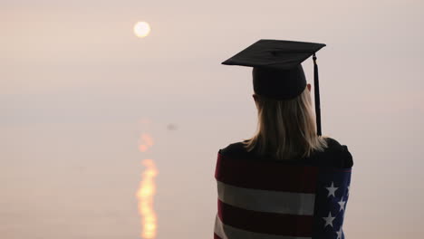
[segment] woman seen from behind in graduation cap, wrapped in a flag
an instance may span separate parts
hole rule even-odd
[[[336,139],[317,134],[311,84],[300,62],[285,69],[258,66],[287,57],[269,49],[311,54],[317,43],[261,41],[226,61],[254,66],[258,124],[251,139],[218,151],[214,238],[344,239],[352,155]]]

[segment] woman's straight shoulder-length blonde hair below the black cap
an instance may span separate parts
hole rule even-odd
[[[311,94],[307,87],[291,100],[272,100],[257,95],[257,129],[244,141],[247,151],[279,160],[309,157],[328,147],[326,136],[316,133]]]

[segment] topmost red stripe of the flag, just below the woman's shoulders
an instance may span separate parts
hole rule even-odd
[[[215,170],[217,180],[226,184],[297,193],[315,193],[317,174],[318,167],[242,160],[219,153]]]

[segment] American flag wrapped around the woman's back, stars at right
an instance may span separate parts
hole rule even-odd
[[[218,153],[214,239],[344,239],[351,174]]]

